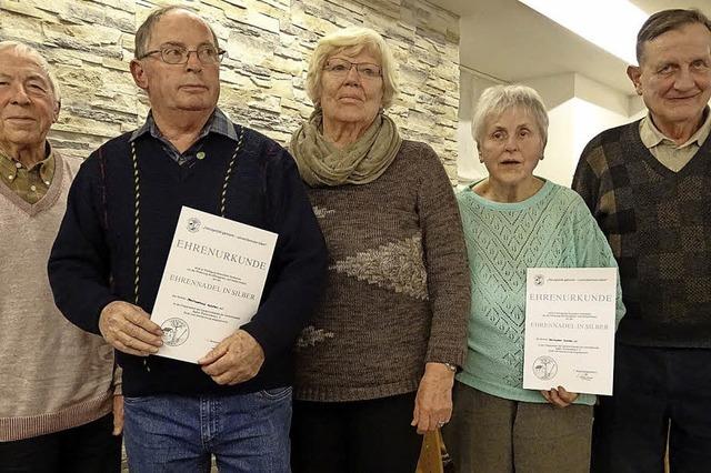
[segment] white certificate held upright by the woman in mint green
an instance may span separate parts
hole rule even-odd
[[[617,268],[529,268],[523,388],[612,394]]]

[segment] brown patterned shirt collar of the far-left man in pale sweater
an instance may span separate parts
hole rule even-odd
[[[0,180],[28,203],[34,204],[44,197],[54,178],[54,153],[49,142],[42,161],[30,169],[0,152]]]

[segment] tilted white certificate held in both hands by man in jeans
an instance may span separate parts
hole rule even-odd
[[[276,233],[183,207],[151,314],[158,354],[197,363],[249,322],[276,244]]]

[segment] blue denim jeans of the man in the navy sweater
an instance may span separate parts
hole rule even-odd
[[[291,388],[230,396],[124,399],[132,473],[289,472]]]

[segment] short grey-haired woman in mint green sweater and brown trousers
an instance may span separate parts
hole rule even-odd
[[[522,388],[525,270],[615,266],[614,258],[582,199],[533,175],[548,140],[533,89],[487,89],[473,134],[489,177],[458,194],[472,292],[447,447],[458,472],[587,472],[594,395]]]

